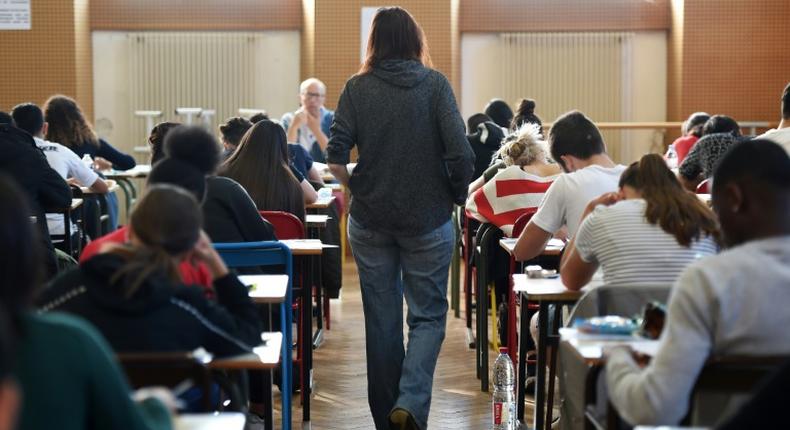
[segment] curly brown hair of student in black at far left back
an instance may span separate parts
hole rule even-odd
[[[49,124],[46,136],[49,141],[69,148],[84,144],[99,145],[99,137],[71,97],[50,97],[44,104],[44,119]]]

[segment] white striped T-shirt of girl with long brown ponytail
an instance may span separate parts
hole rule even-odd
[[[606,285],[672,285],[692,262],[718,252],[711,237],[685,247],[661,226],[645,218],[647,203],[629,199],[599,206],[584,219],[576,250],[587,263],[597,263]]]

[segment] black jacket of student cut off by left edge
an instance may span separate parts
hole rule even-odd
[[[57,271],[55,251],[45,214],[47,209],[64,209],[71,205],[71,189],[58,172],[49,167],[33,137],[8,124],[0,124],[0,172],[13,178],[27,195],[30,215],[36,217],[40,240],[48,251],[47,270],[54,276]]]

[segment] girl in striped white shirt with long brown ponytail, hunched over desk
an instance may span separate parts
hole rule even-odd
[[[600,266],[606,285],[672,285],[689,264],[717,251],[716,218],[658,154],[631,164],[620,191],[591,201],[560,269],[572,290]]]

